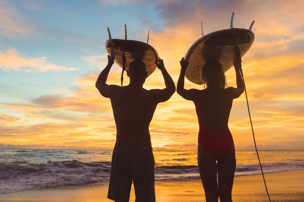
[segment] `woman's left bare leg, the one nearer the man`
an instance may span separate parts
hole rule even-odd
[[[205,190],[206,202],[218,202],[219,189],[216,181],[216,160],[200,143],[197,147],[197,162],[199,165],[199,174]]]

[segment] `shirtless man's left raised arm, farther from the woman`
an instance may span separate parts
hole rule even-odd
[[[108,65],[99,74],[98,79],[95,83],[95,86],[98,89],[99,93],[107,98],[111,96],[111,93],[113,93],[112,88],[115,86],[115,85],[108,85],[105,83],[107,81],[110,69],[113,64],[114,64],[114,60],[111,58],[111,56],[108,55]]]

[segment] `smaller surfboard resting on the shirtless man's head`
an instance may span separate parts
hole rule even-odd
[[[109,56],[114,58],[114,62],[121,68],[123,68],[122,53],[124,50],[126,56],[126,71],[129,69],[130,63],[134,60],[141,60],[146,64],[148,76],[157,68],[155,62],[159,60],[158,53],[147,43],[135,40],[108,39],[105,42],[105,49]]]

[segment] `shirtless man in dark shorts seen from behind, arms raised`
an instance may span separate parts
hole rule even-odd
[[[148,74],[146,65],[140,60],[131,62],[127,71],[130,83],[123,86],[121,115],[121,86],[106,84],[113,63],[114,60],[108,56],[108,65],[98,76],[95,85],[102,96],[110,98],[117,129],[108,198],[117,202],[129,201],[133,181],[136,202],[154,202],[154,156],[149,124],[157,104],[170,99],[175,92],[175,85],[164,67],[163,60],[160,59],[156,65],[162,72],[166,88],[144,89],[143,83]],[[117,156],[121,129],[119,156]],[[116,171],[117,158],[118,172]],[[118,190],[117,186],[119,186]]]

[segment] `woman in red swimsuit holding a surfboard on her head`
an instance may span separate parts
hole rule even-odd
[[[202,66],[204,89],[184,89],[188,62],[184,58],[180,61],[181,73],[177,83],[177,93],[195,104],[199,121],[197,161],[206,202],[218,201],[219,198],[221,202],[232,201],[236,159],[228,119],[233,99],[244,92],[240,74],[240,49],[237,45],[234,48],[236,54],[233,66],[237,77],[237,88],[225,88],[227,84],[223,67],[214,60]]]

